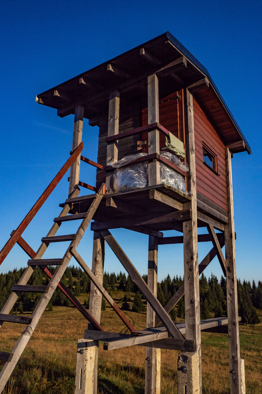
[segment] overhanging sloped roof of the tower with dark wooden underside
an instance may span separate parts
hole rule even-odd
[[[83,105],[84,117],[91,125],[96,125],[106,114],[109,93],[114,89],[120,91],[124,105],[139,99],[146,106],[147,77],[153,73],[159,76],[159,98],[172,93],[170,89],[179,90],[203,79],[205,83],[194,87],[194,97],[208,120],[225,145],[233,144],[233,152],[251,153],[208,71],[169,32],[52,87],[37,95],[36,101],[57,109],[61,117],[74,113],[76,106]]]

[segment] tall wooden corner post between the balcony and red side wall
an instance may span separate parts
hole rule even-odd
[[[189,166],[187,188],[192,200],[184,204],[192,209],[192,219],[183,223],[184,236],[184,273],[185,273],[185,318],[186,339],[196,340],[199,359],[199,392],[201,384],[201,332],[199,304],[199,272],[197,251],[197,200],[196,200],[196,163],[194,140],[194,112],[192,93],[186,89],[186,162]]]

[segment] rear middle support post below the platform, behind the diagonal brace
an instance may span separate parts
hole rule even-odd
[[[157,237],[149,235],[148,242],[148,287],[157,296]],[[155,312],[147,303],[146,328],[155,327]],[[161,349],[146,347],[145,394],[160,394]]]

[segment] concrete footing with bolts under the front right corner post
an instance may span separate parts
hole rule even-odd
[[[199,394],[198,354],[180,353],[177,360],[177,394]]]

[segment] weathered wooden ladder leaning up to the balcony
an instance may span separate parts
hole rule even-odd
[[[20,356],[22,355],[22,352],[24,351],[26,344],[31,338],[31,335],[35,327],[37,326],[37,323],[39,322],[44,310],[47,307],[48,302],[50,301],[50,298],[52,297],[55,289],[57,288],[57,285],[60,279],[62,278],[62,275],[65,272],[66,267],[68,266],[72,258],[72,254],[70,253],[70,250],[72,248],[73,249],[77,248],[79,242],[81,241],[81,238],[85,233],[85,230],[87,229],[92,217],[94,216],[94,213],[96,212],[96,209],[98,208],[100,201],[103,197],[103,190],[104,190],[104,184],[101,185],[100,189],[96,193],[96,198],[93,200],[92,204],[90,205],[89,210],[85,213],[67,216],[71,206],[70,204],[66,204],[64,206],[60,215],[58,217],[55,217],[54,225],[51,227],[47,236],[42,238],[42,243],[37,253],[33,257],[33,259],[28,260],[28,267],[24,271],[22,277],[20,278],[18,283],[11,288],[12,293],[0,312],[0,327],[2,326],[3,322],[22,323],[22,324],[26,324],[26,327],[22,331],[22,334],[20,335],[20,338],[18,339],[15,347],[13,348],[12,353],[0,351],[0,360],[6,361],[6,364],[4,365],[0,373],[0,393],[3,391],[11,373],[13,372],[13,369],[15,368]],[[71,198],[76,197],[78,194],[79,194],[79,190],[77,189],[74,190]],[[78,227],[76,233],[62,235],[62,236],[55,236],[57,230],[59,229],[63,221],[68,221],[70,219],[71,220],[82,219],[81,225]],[[63,258],[42,259],[42,256],[50,243],[63,242],[63,241],[71,241]],[[34,268],[36,266],[47,266],[47,265],[57,266],[57,269],[55,270],[55,273],[52,279],[50,279],[50,282],[48,283],[47,286],[33,286],[26,284],[30,279],[34,271]],[[16,316],[9,314],[21,292],[43,293],[41,299],[39,300],[39,303],[33,310],[33,313],[31,314],[30,317]]]

